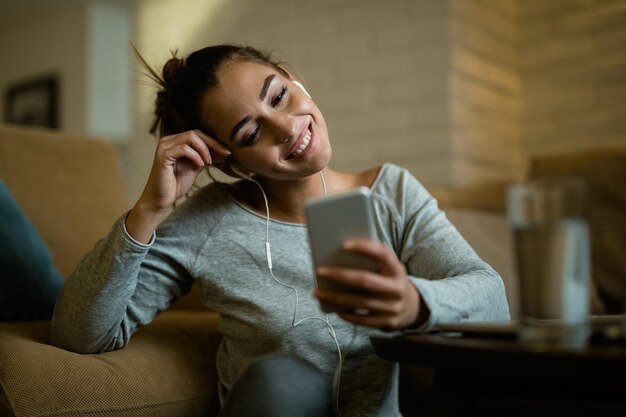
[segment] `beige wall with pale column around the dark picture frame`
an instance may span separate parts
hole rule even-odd
[[[123,145],[130,136],[133,20],[125,0],[57,0],[56,7],[41,1],[31,1],[30,12],[15,6],[24,10],[12,20],[0,16],[0,91],[56,75],[60,128]]]

